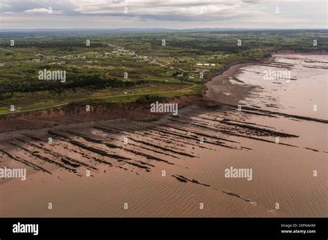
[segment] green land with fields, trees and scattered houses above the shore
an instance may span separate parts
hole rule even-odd
[[[122,103],[144,94],[200,94],[204,80],[232,61],[262,59],[284,49],[328,50],[327,30],[0,36],[1,114],[12,112],[10,106],[18,112],[87,99]],[[65,71],[66,81],[40,80],[44,69]]]

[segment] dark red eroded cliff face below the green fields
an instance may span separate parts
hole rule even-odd
[[[201,95],[191,95],[170,99],[169,102],[178,103],[179,108],[201,101]],[[39,129],[59,126],[68,123],[82,123],[111,119],[152,120],[161,113],[150,112],[149,104],[120,103],[103,105],[90,104],[90,111],[85,106],[64,106],[31,112],[17,112],[0,116],[0,132],[14,130]]]

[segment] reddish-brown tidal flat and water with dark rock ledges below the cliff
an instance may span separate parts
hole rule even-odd
[[[289,58],[295,56],[276,59],[283,65]],[[288,92],[283,84],[275,84],[280,90],[271,92],[270,86],[259,85],[261,81],[251,82],[255,80],[248,73],[255,76],[259,67],[264,66],[236,66],[224,77],[212,79],[207,97],[218,102],[187,106],[178,117],[167,114],[157,121],[92,121],[1,133],[1,166],[27,168],[28,179],[1,180],[0,215],[327,216],[327,117],[322,112],[304,114],[295,104],[290,110],[280,100],[284,96],[274,94]],[[325,66],[309,68],[322,69]],[[276,98],[266,97],[264,108],[261,96],[269,93]],[[226,178],[225,169],[232,166],[253,169],[253,179]],[[318,177],[313,177],[313,170]],[[48,210],[48,203],[53,209]]]

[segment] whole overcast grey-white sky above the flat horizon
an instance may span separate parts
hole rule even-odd
[[[327,0],[0,0],[0,29],[327,28]]]

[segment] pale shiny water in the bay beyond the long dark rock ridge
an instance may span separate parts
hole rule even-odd
[[[327,115],[328,55],[275,54],[271,64],[241,68],[237,79],[259,86],[250,97],[241,101],[262,109],[319,119]],[[264,80],[265,71],[289,71],[291,80]],[[238,83],[238,82],[237,82]],[[317,110],[313,110],[313,105]]]

